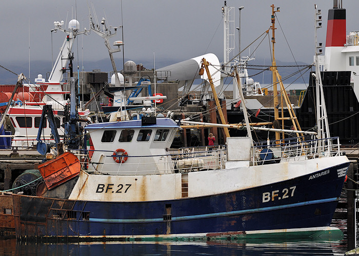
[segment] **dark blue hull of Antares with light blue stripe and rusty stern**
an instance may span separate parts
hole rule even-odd
[[[328,227],[341,195],[343,168],[348,166],[226,194],[167,201],[97,202],[14,195],[16,236],[117,240]]]

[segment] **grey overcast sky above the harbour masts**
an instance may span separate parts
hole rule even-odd
[[[30,62],[50,60],[58,54],[64,33],[51,32],[54,21],[76,18],[83,28],[89,28],[89,4],[87,0],[63,1],[2,1],[0,8],[1,51],[0,65],[7,66],[13,61]],[[318,40],[325,45],[328,9],[332,0],[251,0],[227,1],[227,6],[235,7],[235,27],[239,26],[238,7],[241,11],[241,47],[244,49],[256,37],[270,27],[271,4],[280,7],[276,27],[276,59],[293,61],[296,59],[311,63],[314,54],[314,3],[322,10],[323,28],[318,32]],[[214,53],[223,61],[223,18],[219,0],[123,0],[93,1],[98,19],[107,18],[112,26],[124,26],[125,58],[138,61],[153,59],[186,60],[205,53]],[[347,10],[347,33],[359,30],[358,0],[343,0]],[[123,18],[122,14],[123,13]],[[123,20],[123,22],[122,22]],[[281,25],[281,27],[280,27]],[[286,36],[283,36],[282,30]],[[29,36],[30,34],[30,36]],[[29,39],[30,38],[30,39]],[[122,40],[121,33],[111,38]],[[289,46],[287,45],[287,42]],[[78,36],[79,61],[108,58],[104,40],[98,35]],[[235,52],[238,51],[238,33],[235,31]],[[251,51],[254,50],[251,47]],[[82,48],[82,49],[81,49]],[[243,55],[248,54],[248,52]],[[77,53],[75,52],[75,56]],[[116,53],[122,58],[122,53]],[[258,49],[257,58],[270,57],[268,39]],[[147,67],[153,68],[153,67]],[[161,68],[161,67],[156,67]],[[89,68],[91,70],[91,67]],[[50,67],[49,67],[50,70]],[[26,71],[25,71],[26,72]]]

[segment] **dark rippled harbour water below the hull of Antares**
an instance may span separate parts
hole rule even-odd
[[[348,251],[346,222],[333,220],[344,233],[341,241],[178,241],[178,242],[96,242],[27,243],[0,239],[0,255],[344,255]]]

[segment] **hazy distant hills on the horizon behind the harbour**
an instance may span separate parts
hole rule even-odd
[[[125,59],[125,61],[127,61],[127,60],[129,60],[129,59]],[[153,69],[153,60],[152,59],[151,60],[131,59],[131,60],[133,60],[136,64],[141,63],[147,69]],[[170,59],[170,58],[156,59],[156,62],[155,62],[156,69],[166,67],[166,66],[169,66],[171,64],[174,64],[176,62],[180,62],[183,60],[184,59]],[[116,62],[116,68],[118,70],[122,70],[123,69],[122,59],[120,59],[120,58],[115,59],[115,62]],[[295,66],[296,65],[295,62],[283,62],[280,60],[276,60],[276,63],[277,63],[277,66]],[[7,64],[5,64],[5,63],[0,63],[0,64],[16,74],[24,73],[24,75],[26,77],[29,77],[29,63],[14,61],[14,62],[9,62]],[[79,65],[81,65],[81,64],[82,63],[79,63]],[[103,72],[112,71],[111,61],[109,58],[100,59],[97,61],[83,61],[83,65],[84,65],[84,71],[87,71],[87,72],[90,72],[94,69],[99,69]],[[268,61],[266,60],[264,62],[263,59],[256,58],[255,60],[250,61],[249,66],[248,66],[248,74],[250,77],[252,77],[254,79],[254,81],[258,81],[261,84],[263,84],[264,86],[266,84],[270,84],[271,80],[272,80],[271,71],[261,72],[266,67],[255,67],[254,65],[270,66],[271,62],[269,60]],[[300,65],[300,66],[307,65],[307,63],[298,62],[297,65]],[[74,66],[74,72],[75,71],[77,72],[77,62],[76,61],[74,61],[73,66]],[[302,69],[302,67],[299,67],[299,68]],[[47,76],[51,72],[51,69],[52,69],[51,61],[41,61],[41,60],[32,61],[30,63],[30,80],[34,81],[34,79],[37,77],[38,74],[42,74],[44,78],[47,78]],[[79,70],[82,71],[81,66],[79,67]],[[294,72],[298,71],[298,68],[297,67],[289,67],[289,68],[278,67],[278,70],[279,70],[280,74],[282,75],[282,79],[284,79],[285,77],[290,76]],[[260,73],[260,74],[257,74],[257,73]],[[304,72],[302,72],[302,73],[304,73]],[[257,75],[255,75],[255,74],[257,74]],[[292,76],[292,77],[286,79],[284,81],[284,83],[292,83],[292,82],[307,83],[309,80],[308,76],[309,76],[308,72],[306,74],[304,74],[303,78],[300,78],[300,74],[297,74],[295,76]],[[15,84],[16,80],[17,80],[16,75],[14,75],[13,73],[0,67],[0,84]]]

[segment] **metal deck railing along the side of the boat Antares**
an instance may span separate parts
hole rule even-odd
[[[99,162],[83,157],[83,166],[92,165],[95,170],[88,172],[111,175],[145,175],[189,173],[209,169],[223,169],[227,162],[226,146],[186,147],[171,150],[167,155],[127,156],[135,161],[119,163],[113,161],[112,151],[102,151]],[[252,147],[250,165],[264,165],[289,161],[303,161],[341,155],[338,137],[304,140],[288,138],[285,140],[255,143]],[[111,160],[106,160],[110,158]],[[119,158],[121,159],[121,158]]]

